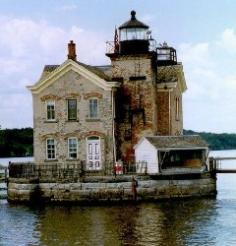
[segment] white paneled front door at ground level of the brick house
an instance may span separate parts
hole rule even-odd
[[[101,148],[98,137],[87,139],[87,169],[100,170],[101,167]]]

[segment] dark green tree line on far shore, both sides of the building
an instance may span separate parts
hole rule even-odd
[[[236,134],[184,130],[184,135],[200,135],[211,150],[236,149]],[[0,157],[33,156],[33,129],[0,130]]]

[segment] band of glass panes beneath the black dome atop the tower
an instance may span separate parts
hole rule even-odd
[[[146,28],[124,28],[120,30],[120,41],[125,40],[146,40]]]

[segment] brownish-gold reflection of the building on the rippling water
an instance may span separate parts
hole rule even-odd
[[[214,200],[103,207],[46,207],[43,245],[215,245]],[[198,235],[201,235],[199,238]]]

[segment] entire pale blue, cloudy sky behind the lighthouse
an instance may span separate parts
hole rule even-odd
[[[33,126],[26,89],[45,64],[61,64],[67,43],[90,65],[109,64],[106,41],[130,11],[183,63],[184,128],[236,133],[235,0],[0,0],[0,126]]]

